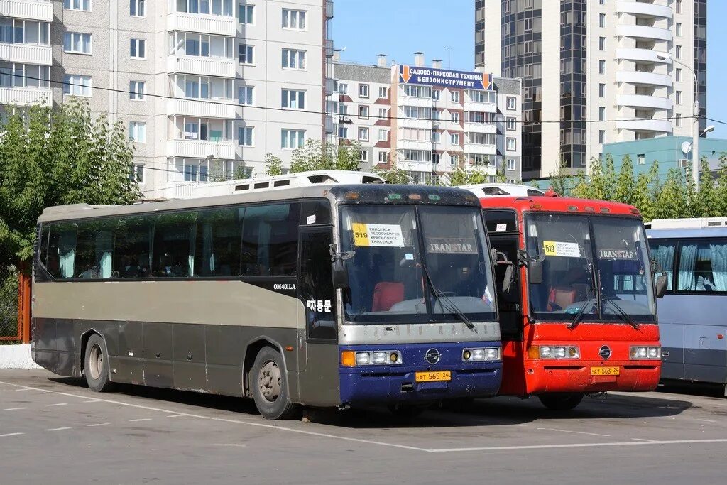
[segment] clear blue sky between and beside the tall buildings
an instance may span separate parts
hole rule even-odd
[[[376,55],[413,63],[414,52],[426,52],[427,63],[442,59],[443,67],[468,70],[475,59],[474,0],[336,0],[333,38],[342,60],[375,63]],[[727,121],[727,1],[707,6],[707,116]],[[446,49],[450,47],[450,49]],[[727,125],[715,124],[710,137],[727,138]]]

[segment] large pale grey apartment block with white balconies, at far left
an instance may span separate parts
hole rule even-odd
[[[0,15],[0,63],[63,81],[11,80],[0,103],[86,97],[128,130],[147,196],[264,175],[266,153],[286,167],[332,131],[331,0],[0,0]],[[37,32],[22,46],[17,23]]]

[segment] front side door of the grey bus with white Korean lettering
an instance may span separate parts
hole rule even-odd
[[[300,229],[298,294],[305,305],[300,398],[316,405],[340,401],[336,292],[331,277],[331,226]]]

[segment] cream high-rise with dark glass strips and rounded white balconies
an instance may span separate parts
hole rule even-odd
[[[475,65],[523,79],[523,177],[705,116],[706,0],[476,0]],[[704,127],[704,120],[700,120]]]

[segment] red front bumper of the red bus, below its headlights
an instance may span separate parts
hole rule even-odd
[[[661,361],[555,363],[526,362],[526,393],[598,393],[608,390],[654,390],[659,384]],[[618,367],[618,375],[592,375],[594,367]]]

